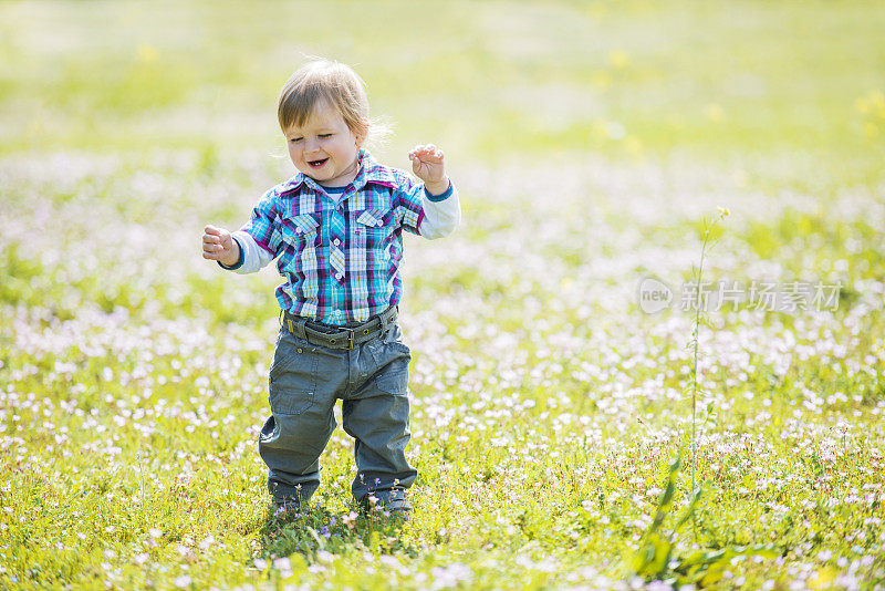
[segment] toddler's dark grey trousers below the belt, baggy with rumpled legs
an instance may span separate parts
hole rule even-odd
[[[337,426],[337,398],[344,431],[355,440],[351,490],[356,501],[369,494],[382,501],[402,498],[415,481],[417,470],[405,456],[412,353],[402,336],[394,322],[377,338],[342,350],[281,328],[270,369],[272,415],[258,442],[277,505],[308,502],[320,486],[320,454]]]

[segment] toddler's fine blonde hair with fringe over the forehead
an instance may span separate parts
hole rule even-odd
[[[368,132],[368,97],[365,82],[350,65],[329,60],[313,60],[292,74],[280,91],[277,118],[285,133],[292,125],[301,127],[316,103],[329,101],[344,118],[354,135]]]

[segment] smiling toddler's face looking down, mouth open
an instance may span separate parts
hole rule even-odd
[[[356,178],[363,137],[354,135],[329,102],[317,102],[304,125],[293,125],[284,135],[292,164],[317,183],[342,187]]]

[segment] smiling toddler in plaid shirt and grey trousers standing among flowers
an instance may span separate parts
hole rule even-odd
[[[207,226],[204,258],[238,273],[277,259],[282,325],[270,367],[271,416],[259,437],[278,507],[309,502],[336,427],[355,439],[352,492],[408,519],[408,346],[396,323],[403,230],[428,239],[460,221],[444,154],[409,153],[424,183],[376,163],[364,84],[348,66],[315,61],[289,79],[278,117],[298,174],[268,190],[242,229]]]

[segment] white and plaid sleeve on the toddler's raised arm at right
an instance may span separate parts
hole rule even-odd
[[[428,240],[450,235],[461,220],[458,190],[451,182],[442,195],[434,196],[427,193],[424,183],[405,178],[395,204],[403,229]]]

